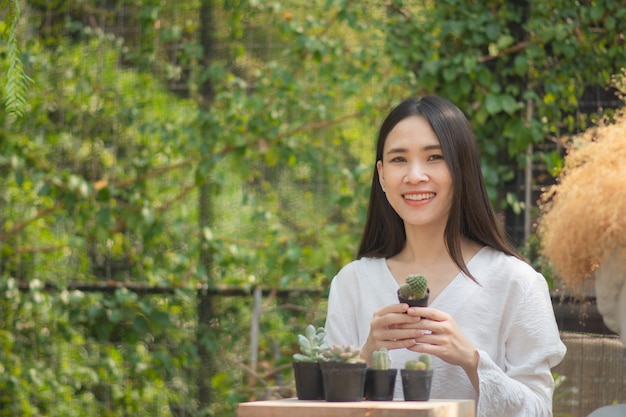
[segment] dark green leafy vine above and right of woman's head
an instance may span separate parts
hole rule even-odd
[[[389,56],[415,93],[449,98],[469,117],[483,155],[489,194],[506,206],[503,185],[526,164],[529,145],[580,131],[584,89],[609,85],[626,65],[618,1],[389,7]],[[619,23],[618,23],[619,22]],[[577,114],[576,116],[573,116]]]

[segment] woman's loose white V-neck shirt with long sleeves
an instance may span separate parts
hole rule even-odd
[[[545,278],[527,263],[483,247],[429,307],[450,314],[478,348],[478,397],[467,374],[432,356],[433,399],[474,399],[479,417],[551,416],[551,368],[565,355]],[[376,310],[397,303],[398,283],[385,259],[362,258],[334,277],[328,299],[326,341],[362,346]],[[393,368],[416,358],[390,351]],[[399,374],[399,373],[398,373]],[[402,384],[396,382],[397,398]]]

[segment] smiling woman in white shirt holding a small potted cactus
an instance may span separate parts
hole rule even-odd
[[[411,273],[428,278],[428,307],[398,302]],[[507,242],[449,101],[411,98],[384,120],[357,260],[332,281],[326,330],[368,362],[382,347],[395,368],[432,355],[431,398],[475,399],[478,416],[552,414],[565,346],[548,287]]]

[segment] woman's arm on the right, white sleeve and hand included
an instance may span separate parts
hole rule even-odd
[[[496,362],[470,342],[453,317],[433,308],[409,309],[422,316],[419,327],[431,334],[410,349],[429,353],[465,370],[478,395],[479,416],[551,416],[551,368],[565,354],[545,280],[541,277],[515,294],[502,316],[494,317],[491,340],[503,359]],[[468,329],[471,332],[471,329]],[[497,332],[500,332],[499,334]]]

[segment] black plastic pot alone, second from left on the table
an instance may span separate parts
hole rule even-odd
[[[362,401],[365,394],[367,364],[322,362],[324,399],[326,401]]]

